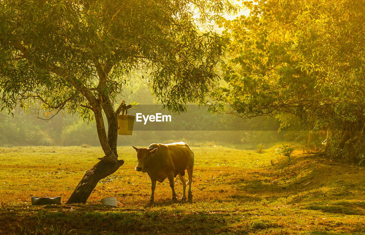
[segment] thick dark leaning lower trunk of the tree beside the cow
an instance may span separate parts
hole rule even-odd
[[[111,175],[123,164],[123,160],[118,160],[115,163],[109,162],[105,159],[99,161],[85,173],[66,204],[86,203],[99,180]]]

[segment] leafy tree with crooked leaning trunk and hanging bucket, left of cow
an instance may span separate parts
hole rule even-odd
[[[131,73],[149,71],[154,94],[170,110],[206,102],[225,51],[219,35],[198,24],[227,11],[235,11],[227,0],[0,2],[1,110],[19,104],[50,111],[47,118],[67,110],[96,122],[105,156],[67,203],[85,203],[124,162],[116,150],[118,101]]]

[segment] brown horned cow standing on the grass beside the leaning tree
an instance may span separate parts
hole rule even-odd
[[[136,170],[147,172],[151,178],[151,202],[154,200],[156,181],[162,183],[166,178],[169,179],[172,189],[172,200],[177,200],[174,190],[174,178],[177,175],[183,183],[181,200],[186,200],[185,189],[188,184],[188,198],[192,200],[191,184],[193,182],[194,152],[187,143],[151,144],[148,148],[132,147],[137,152],[138,164]],[[189,176],[187,183],[185,183],[184,178],[185,170],[187,170]]]

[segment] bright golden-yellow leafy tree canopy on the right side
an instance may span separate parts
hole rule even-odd
[[[242,118],[296,116],[309,130],[327,130],[327,147],[331,137],[334,148],[360,145],[364,1],[244,4],[251,9],[248,17],[222,21],[229,57],[223,64],[228,85],[222,99],[230,112]]]

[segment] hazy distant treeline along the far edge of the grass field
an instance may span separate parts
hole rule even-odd
[[[144,84],[134,84],[133,89],[125,90],[126,103],[138,102],[129,113],[166,113],[156,108],[150,89]],[[133,92],[131,91],[133,90]],[[189,105],[189,112],[173,115],[173,122],[161,125],[150,123],[143,130],[143,123],[135,122],[132,136],[118,136],[118,145],[147,146],[154,142],[168,143],[186,141],[191,145],[245,144],[256,146],[281,141],[294,140],[298,133],[277,132],[280,122],[273,117],[258,117],[242,122],[242,119],[229,114],[211,114],[206,109]],[[94,122],[84,122],[77,116],[57,114],[51,120],[41,120],[38,115],[25,113],[22,109],[13,110],[14,117],[0,112],[0,146],[100,146]],[[44,116],[43,116],[44,117]],[[178,121],[176,121],[178,120]],[[104,120],[107,124],[107,121]],[[107,125],[106,125],[107,126]],[[297,139],[296,139],[297,140]]]

